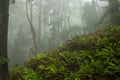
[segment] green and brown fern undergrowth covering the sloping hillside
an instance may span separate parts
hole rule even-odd
[[[75,36],[10,74],[11,80],[120,80],[120,26]]]

